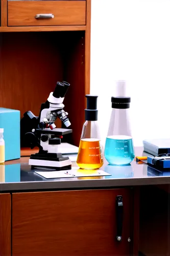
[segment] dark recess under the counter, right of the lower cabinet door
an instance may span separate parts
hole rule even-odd
[[[143,255],[170,255],[169,216],[169,192],[156,186],[141,187],[139,250]]]

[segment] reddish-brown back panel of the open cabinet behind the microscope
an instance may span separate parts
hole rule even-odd
[[[62,32],[59,32],[62,33]],[[1,33],[0,106],[39,115],[56,82],[63,78],[55,32]]]

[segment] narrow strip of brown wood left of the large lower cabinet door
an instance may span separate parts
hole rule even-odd
[[[11,195],[0,194],[0,255],[11,255]]]

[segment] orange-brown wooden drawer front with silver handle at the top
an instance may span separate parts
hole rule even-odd
[[[53,17],[37,17],[53,14]],[[8,1],[8,26],[85,25],[86,1]]]

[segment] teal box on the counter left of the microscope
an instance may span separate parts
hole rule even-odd
[[[20,158],[20,111],[0,108],[0,128],[4,128],[5,161]]]

